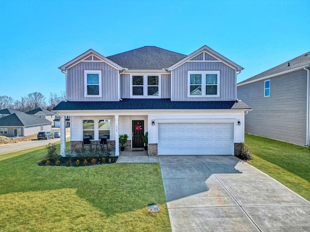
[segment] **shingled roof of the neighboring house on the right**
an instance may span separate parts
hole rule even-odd
[[[291,59],[289,61],[284,62],[283,64],[280,64],[274,68],[268,69],[267,71],[264,71],[263,73],[259,73],[255,76],[252,76],[244,81],[241,81],[238,83],[239,84],[243,84],[243,83],[247,83],[249,81],[254,81],[256,79],[260,79],[263,78],[265,76],[269,76],[269,75],[273,75],[273,74],[277,74],[277,73],[281,73],[284,71],[289,71],[298,67],[303,67],[305,65],[309,65],[310,64],[310,51],[302,54],[299,57],[296,57],[294,59]]]

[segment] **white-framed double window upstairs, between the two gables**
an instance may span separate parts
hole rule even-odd
[[[132,75],[130,95],[134,98],[160,97],[160,75]]]

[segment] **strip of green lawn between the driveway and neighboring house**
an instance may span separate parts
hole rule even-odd
[[[246,134],[249,164],[310,201],[310,148]]]

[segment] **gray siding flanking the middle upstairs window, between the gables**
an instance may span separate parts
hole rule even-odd
[[[141,73],[140,75],[143,75]],[[146,73],[147,74],[147,73]],[[137,74],[139,75],[139,74]],[[157,74],[150,74],[157,75]],[[171,98],[171,75],[161,74],[160,75],[160,98]],[[121,98],[130,98],[130,87],[131,87],[130,74],[121,74]]]

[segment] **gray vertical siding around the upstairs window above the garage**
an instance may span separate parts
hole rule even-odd
[[[219,71],[219,96],[187,97],[187,71]],[[171,101],[236,100],[236,71],[222,62],[186,62],[173,70],[172,85]]]

